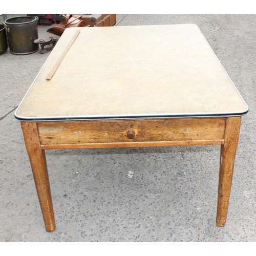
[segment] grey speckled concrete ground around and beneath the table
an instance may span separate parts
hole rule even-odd
[[[0,120],[0,242],[256,241],[256,15],[128,14],[118,26],[184,23],[199,26],[249,106],[226,226],[215,223],[218,145],[53,150],[46,156],[56,230],[46,232],[12,111]],[[52,35],[48,28],[38,26],[39,38]],[[22,100],[49,54],[0,55],[0,116]]]

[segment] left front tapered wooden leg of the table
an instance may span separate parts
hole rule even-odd
[[[21,124],[46,230],[52,232],[55,230],[55,220],[45,151],[41,150],[37,124],[35,122],[21,122]]]

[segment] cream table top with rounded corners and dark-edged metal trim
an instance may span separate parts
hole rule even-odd
[[[46,77],[79,30],[50,80]],[[19,120],[243,115],[248,106],[194,24],[69,28]]]

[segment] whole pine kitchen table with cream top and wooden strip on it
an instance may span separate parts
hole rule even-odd
[[[46,230],[45,150],[221,145],[217,225],[227,217],[248,106],[194,24],[69,28],[18,106]]]

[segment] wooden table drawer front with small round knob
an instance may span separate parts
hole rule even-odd
[[[225,118],[38,122],[41,145],[224,138]]]

